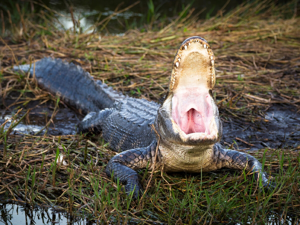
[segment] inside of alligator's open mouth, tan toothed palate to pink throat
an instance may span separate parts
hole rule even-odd
[[[209,94],[215,83],[214,55],[206,46],[208,43],[197,41],[186,43],[174,60],[174,78],[170,82],[173,92],[172,118],[187,135],[216,133]]]

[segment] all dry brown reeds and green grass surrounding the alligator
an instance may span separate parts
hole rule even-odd
[[[159,101],[177,47],[185,38],[197,35],[214,50],[214,92],[222,120],[254,126],[273,103],[300,109],[300,18],[296,13],[294,2],[278,6],[255,1],[205,20],[185,14],[158,31],[149,25],[146,32],[128,30],[122,37],[61,31],[45,12],[32,14],[44,21],[38,23],[20,13],[22,29],[16,27],[9,37],[1,38],[1,98],[19,91],[8,108],[26,107],[34,100],[40,101],[35,107],[53,102],[48,129],[55,112],[63,107],[60,100],[38,88],[29,76],[11,72],[10,67],[53,56],[81,65],[95,79],[119,91]],[[99,26],[105,25],[100,22]],[[28,114],[29,110],[18,112],[24,118]],[[115,152],[101,139],[12,133],[14,124],[22,119],[13,117],[13,122],[7,122],[12,123],[10,129],[0,127],[0,194],[8,199],[55,205],[103,224],[265,224],[271,218],[288,222],[286,217],[292,223],[300,221],[300,145],[251,152],[276,179],[276,190],[260,191],[244,172],[155,171],[147,195],[134,201],[105,175],[104,167]],[[67,165],[56,164],[59,153]],[[149,171],[140,174],[145,188]]]

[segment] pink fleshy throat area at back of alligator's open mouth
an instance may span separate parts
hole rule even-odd
[[[181,88],[172,98],[172,118],[186,133],[210,134],[209,123],[213,117],[210,95],[196,88]]]

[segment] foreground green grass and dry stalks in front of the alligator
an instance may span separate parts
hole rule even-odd
[[[53,138],[50,139],[54,142],[48,137],[26,135],[15,137],[11,143],[8,153],[10,166],[3,176],[12,179],[17,174],[20,178],[18,185],[8,183],[6,188],[23,196],[24,200],[28,199],[29,203],[55,204],[72,214],[89,215],[90,219],[101,223],[110,220],[121,224],[124,221],[144,221],[146,224],[209,224],[212,221],[214,224],[254,224],[267,223],[271,215],[280,218],[281,214],[289,216],[282,220],[287,223],[291,218],[299,219],[300,216],[300,155],[292,149],[284,149],[284,152],[279,149],[272,154],[259,151],[255,155],[264,162],[265,170],[271,171],[274,176],[278,188],[273,191],[260,190],[252,179],[239,171],[223,169],[202,174],[165,174],[158,171],[152,177],[146,196],[134,200],[132,195],[127,196],[122,191],[119,182],[112,182],[104,174],[105,167],[100,161],[108,161],[112,154],[105,146],[92,145],[89,140],[80,140],[77,135],[61,136],[60,140],[59,137]],[[22,152],[12,149],[25,140],[38,146],[39,150],[35,147],[28,153],[24,152],[23,160],[19,162]],[[50,150],[53,147],[58,151]],[[44,149],[49,149],[46,155],[39,153]],[[87,160],[84,161],[86,149]],[[65,154],[66,166],[55,163],[59,153]],[[30,161],[35,161],[34,166],[29,164],[27,167],[24,162]],[[16,172],[19,166],[22,170]],[[144,173],[145,170],[141,171],[142,183],[147,184],[149,174],[145,176]],[[23,182],[21,177],[24,177]],[[55,186],[52,185],[53,180]],[[14,198],[9,192],[6,195]]]

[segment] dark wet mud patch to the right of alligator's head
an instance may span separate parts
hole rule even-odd
[[[250,148],[251,150],[265,147],[273,149],[298,147],[300,145],[300,113],[297,113],[292,106],[275,104],[265,111],[264,118],[256,120],[255,123],[223,122],[221,143],[225,146],[234,143],[232,146],[235,148]]]

